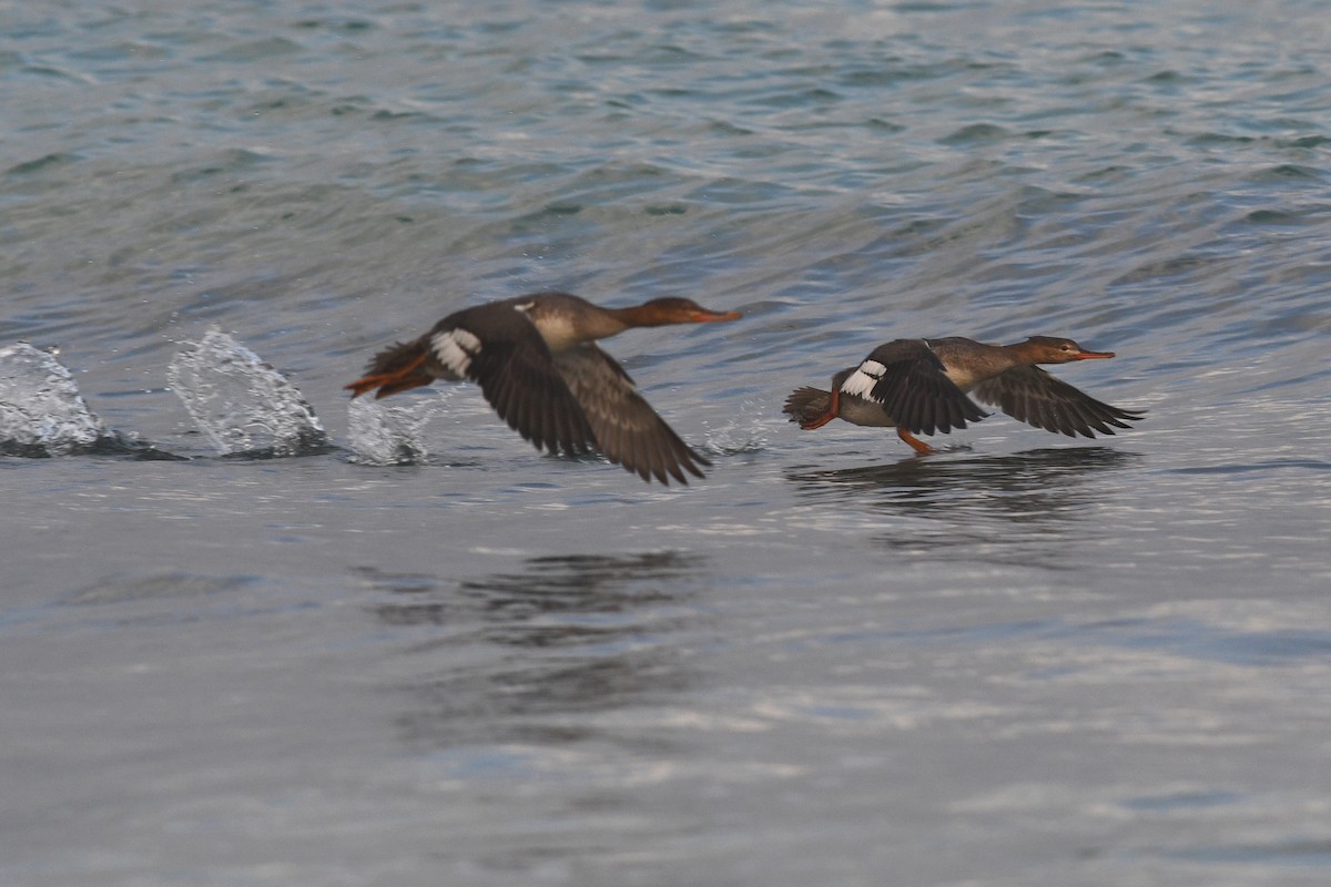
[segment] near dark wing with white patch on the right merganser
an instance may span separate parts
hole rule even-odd
[[[880,344],[841,383],[841,391],[882,404],[897,428],[917,434],[946,434],[985,418],[921,339]]]

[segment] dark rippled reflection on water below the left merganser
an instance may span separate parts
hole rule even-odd
[[[390,597],[370,608],[393,626],[437,626],[410,649],[401,726],[414,745],[568,742],[591,729],[567,715],[659,703],[687,689],[680,644],[701,559],[679,552],[532,557],[461,582],[362,570]]]

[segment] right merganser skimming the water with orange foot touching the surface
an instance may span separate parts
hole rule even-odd
[[[832,391],[792,391],[784,411],[805,431],[833,419],[896,427],[897,436],[920,455],[934,449],[914,434],[946,434],[988,415],[968,392],[1037,428],[1073,438],[1094,438],[1097,431],[1111,435],[1114,428],[1141,422],[1145,414],[1101,403],[1036,366],[1111,356],[1113,351],[1087,351],[1071,339],[1046,335],[1017,344],[961,336],[897,339],[880,344],[860,366],[832,376]]]

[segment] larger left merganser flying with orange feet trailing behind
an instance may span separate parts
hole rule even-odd
[[[596,339],[631,327],[739,317],[689,299],[603,309],[568,293],[536,293],[450,314],[419,339],[374,355],[365,378],[346,387],[353,398],[374,388],[385,398],[435,379],[470,379],[536,449],[578,455],[596,448],[643,480],[669,484],[668,475],[683,484],[684,471],[701,477],[699,465],[712,463],[656,415]]]

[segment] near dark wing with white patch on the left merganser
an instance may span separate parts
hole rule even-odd
[[[508,427],[550,452],[588,452],[596,435],[550,347],[510,302],[450,314],[430,331],[435,360],[480,384]]]

